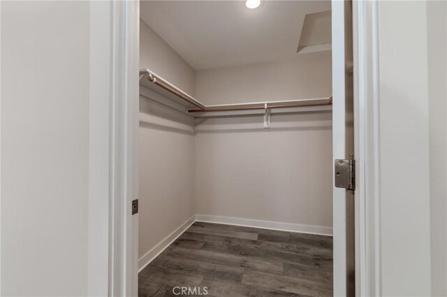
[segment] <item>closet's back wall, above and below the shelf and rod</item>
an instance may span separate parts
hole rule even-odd
[[[323,98],[332,94],[331,52],[199,70],[206,105]],[[196,120],[196,213],[332,228],[330,113]],[[326,229],[328,231],[328,229]],[[329,230],[331,231],[331,230]]]

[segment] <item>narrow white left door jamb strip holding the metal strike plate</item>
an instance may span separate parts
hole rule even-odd
[[[138,113],[140,109],[140,1],[124,2],[124,202],[126,223],[124,255],[126,271],[123,296],[138,296],[138,214],[132,201],[138,199]]]

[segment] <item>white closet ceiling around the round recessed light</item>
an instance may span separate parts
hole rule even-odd
[[[195,70],[296,55],[305,15],[330,1],[141,1],[140,17]]]

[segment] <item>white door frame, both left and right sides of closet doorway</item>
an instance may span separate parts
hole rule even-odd
[[[358,296],[381,294],[378,5],[353,1]],[[136,296],[138,215],[131,215],[131,201],[138,197],[139,1],[114,2],[111,20],[109,295]]]

